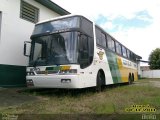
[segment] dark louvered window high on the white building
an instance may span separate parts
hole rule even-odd
[[[39,9],[33,5],[21,1],[20,18],[36,23],[38,22]]]

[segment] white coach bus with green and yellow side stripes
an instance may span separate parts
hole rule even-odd
[[[30,48],[29,48],[30,47]],[[35,25],[29,57],[28,87],[87,88],[138,79],[140,56],[81,15],[66,15]]]

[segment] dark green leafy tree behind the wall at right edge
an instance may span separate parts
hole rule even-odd
[[[160,69],[160,48],[156,48],[149,55],[150,69]]]

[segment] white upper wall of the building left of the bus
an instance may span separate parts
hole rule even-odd
[[[39,20],[60,16],[34,0],[25,0],[39,8]],[[0,64],[26,66],[23,56],[24,41],[29,41],[34,23],[20,18],[20,0],[1,0],[2,23],[0,33]]]

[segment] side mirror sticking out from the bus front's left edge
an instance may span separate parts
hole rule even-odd
[[[31,42],[24,41],[24,50],[23,50],[24,56],[27,56],[27,57],[30,56],[30,48],[31,48]]]

